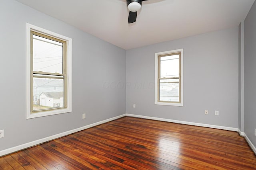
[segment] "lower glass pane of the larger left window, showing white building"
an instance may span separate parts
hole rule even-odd
[[[33,111],[64,107],[64,77],[33,78]]]

